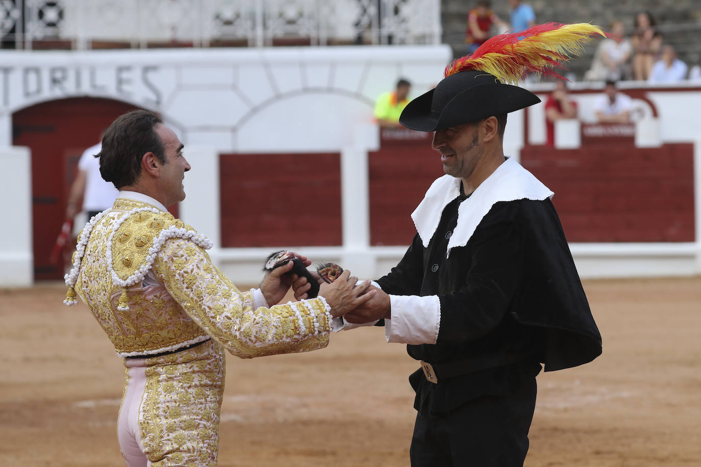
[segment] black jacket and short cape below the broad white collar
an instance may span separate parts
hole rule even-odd
[[[400,263],[377,282],[390,295],[438,295],[436,344],[408,345],[409,355],[429,363],[520,353],[522,361],[438,384],[423,371],[409,377],[414,406],[422,414],[450,412],[484,394],[515,391],[523,379],[592,361],[601,335],[549,199],[497,202],[465,246],[448,239],[461,195],[443,210],[426,248],[418,234]]]

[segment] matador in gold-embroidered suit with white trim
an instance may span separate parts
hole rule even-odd
[[[239,291],[207,255],[212,242],[166,209],[185,196],[183,147],[150,112],[112,123],[96,157],[120,192],[81,232],[66,274],[67,305],[80,296],[124,359],[118,440],[129,467],[214,466],[224,350],[252,358],[321,349],[332,317],[374,295],[344,272],[318,298],[275,305],[291,261]]]

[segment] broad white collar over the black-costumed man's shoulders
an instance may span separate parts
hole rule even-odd
[[[461,179],[451,175],[436,179],[426,191],[423,201],[411,213],[424,248],[438,228],[443,209],[460,195],[460,183]],[[545,200],[553,195],[531,172],[513,158],[508,158],[475,189],[468,200],[461,202],[458,223],[448,241],[446,258],[450,256],[451,248],[468,244],[477,225],[496,202]]]

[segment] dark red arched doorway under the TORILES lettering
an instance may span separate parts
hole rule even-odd
[[[64,258],[49,257],[64,221],[67,197],[81,153],[132,104],[75,97],[36,104],[13,114],[13,145],[32,150],[34,280],[62,279]]]

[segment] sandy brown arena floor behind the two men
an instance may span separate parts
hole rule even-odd
[[[701,466],[701,278],[585,289],[604,355],[538,377],[526,466]],[[63,296],[0,290],[0,466],[123,465],[121,360]],[[308,354],[230,356],[219,466],[408,466],[414,368],[379,328]]]

